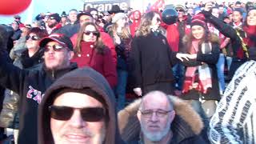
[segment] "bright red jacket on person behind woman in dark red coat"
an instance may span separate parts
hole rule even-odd
[[[117,53],[115,52],[115,46],[114,46],[114,40],[113,38],[110,37],[110,34],[107,34],[103,31],[100,31],[101,37],[102,37],[102,42],[104,43],[104,45],[106,45],[107,47],[110,48],[111,50],[111,55],[112,55],[112,59],[114,62],[114,66],[117,66]],[[74,34],[70,39],[73,43],[73,46],[75,46],[75,43],[77,41],[78,38],[78,34]]]

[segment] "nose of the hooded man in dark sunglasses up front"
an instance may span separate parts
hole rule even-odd
[[[82,115],[79,110],[74,110],[74,113],[72,114],[70,120],[70,125],[75,128],[81,128],[85,126],[85,123],[82,119]]]

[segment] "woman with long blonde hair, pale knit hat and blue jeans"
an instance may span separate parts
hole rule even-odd
[[[130,58],[132,38],[126,14],[115,14],[112,18],[112,23],[113,25],[109,28],[109,34],[114,39],[115,50],[118,55],[118,85],[114,92],[118,97],[118,110],[122,110],[126,103],[127,67]]]

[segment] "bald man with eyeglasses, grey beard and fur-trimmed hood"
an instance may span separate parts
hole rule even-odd
[[[138,119],[133,118],[136,114]],[[206,143],[199,135],[203,128],[200,116],[186,102],[161,91],[151,91],[133,102],[118,118],[127,143]]]

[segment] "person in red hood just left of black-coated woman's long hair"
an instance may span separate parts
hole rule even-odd
[[[130,20],[133,22],[130,25],[130,34],[132,37],[134,37],[135,32],[138,30],[138,26],[141,23],[142,14],[139,10],[135,10],[130,18]]]

